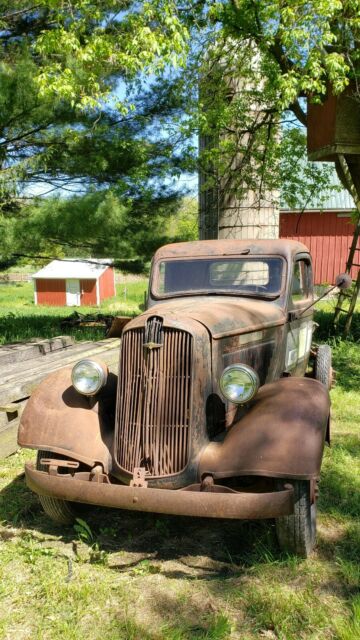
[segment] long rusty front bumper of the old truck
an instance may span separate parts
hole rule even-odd
[[[90,474],[50,474],[28,463],[26,482],[40,495],[95,504],[103,507],[167,513],[202,518],[255,520],[277,518],[294,511],[293,488],[281,491],[239,493],[216,485],[215,491],[200,491],[200,485],[184,489],[151,489],[95,481]]]

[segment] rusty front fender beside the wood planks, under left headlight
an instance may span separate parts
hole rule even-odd
[[[89,466],[111,468],[111,445],[117,376],[109,374],[94,398],[79,394],[71,384],[71,368],[49,375],[32,394],[22,414],[18,442],[74,458]]]

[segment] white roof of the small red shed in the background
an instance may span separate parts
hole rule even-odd
[[[80,260],[76,258],[53,260],[52,262],[49,262],[46,267],[34,273],[32,277],[45,279],[79,278],[96,280],[109,266],[111,266],[111,263],[112,260],[110,259],[97,260],[95,258],[89,258],[89,260]]]

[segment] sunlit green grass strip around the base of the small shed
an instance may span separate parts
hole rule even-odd
[[[144,301],[147,279],[117,285],[117,296],[105,300],[99,307],[50,307],[35,305],[31,282],[0,283],[0,344],[51,338],[66,333],[76,340],[98,340],[105,332],[99,328],[61,329],[61,321],[74,313],[104,313],[111,315],[137,315]]]

